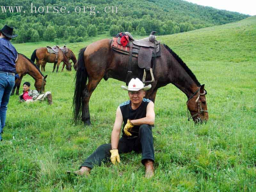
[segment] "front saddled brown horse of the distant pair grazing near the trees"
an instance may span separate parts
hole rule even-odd
[[[39,68],[41,65],[42,71],[45,71],[45,65],[48,62],[48,63],[54,63],[52,72],[54,72],[56,64],[57,64],[57,69],[56,69],[56,73],[57,73],[59,70],[60,63],[62,61],[63,61],[63,68],[66,65],[66,69],[68,71],[71,71],[71,64],[69,63],[69,60],[66,57],[66,55],[60,49],[59,49],[59,53],[58,53],[58,60],[56,61],[55,59],[56,59],[56,54],[48,53],[47,49],[45,47],[40,47],[40,48],[34,50],[34,52],[31,55],[31,60],[33,62],[35,62],[35,60],[36,60],[36,65]]]

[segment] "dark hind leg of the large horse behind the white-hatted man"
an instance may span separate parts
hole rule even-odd
[[[82,97],[82,121],[85,125],[90,125],[90,111],[89,111],[89,100],[92,95],[92,92],[97,87],[97,85],[100,83],[100,80],[89,80],[87,86],[84,89],[83,97]]]

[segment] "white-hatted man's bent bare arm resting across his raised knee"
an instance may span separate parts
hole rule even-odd
[[[140,119],[134,119],[130,122],[134,125],[142,125],[142,124],[148,124],[153,125],[155,123],[155,111],[154,111],[154,103],[151,101],[148,103],[147,106],[147,114],[146,117],[140,118]]]

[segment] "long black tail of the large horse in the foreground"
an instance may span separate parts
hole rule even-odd
[[[75,85],[75,92],[73,97],[73,118],[72,122],[77,123],[77,120],[81,119],[81,106],[82,106],[82,96],[83,91],[85,89],[87,83],[87,70],[84,67],[84,51],[86,47],[81,49],[78,56],[77,61],[77,71],[76,71],[76,85]]]

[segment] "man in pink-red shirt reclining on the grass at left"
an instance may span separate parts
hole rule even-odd
[[[23,83],[23,93],[19,96],[20,102],[34,102],[34,101],[43,101],[45,99],[48,100],[48,104],[52,105],[52,94],[47,91],[44,94],[39,95],[36,90],[30,90],[30,83]]]

